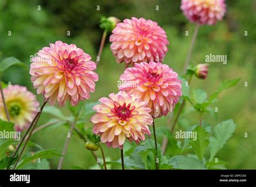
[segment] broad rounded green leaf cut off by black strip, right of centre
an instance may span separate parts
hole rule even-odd
[[[175,169],[206,169],[199,160],[184,155],[173,156],[170,159],[170,164]]]

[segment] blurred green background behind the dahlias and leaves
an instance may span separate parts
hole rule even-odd
[[[256,121],[255,121],[255,40],[256,40],[256,2],[253,0],[226,1],[227,13],[223,21],[214,26],[199,28],[196,44],[191,61],[205,63],[205,55],[210,53],[227,55],[227,64],[211,63],[207,80],[197,78],[192,80],[192,89],[199,88],[211,94],[221,80],[241,77],[241,81],[234,88],[226,90],[212,107],[218,107],[217,117],[206,114],[203,120],[212,126],[220,121],[233,118],[237,128],[227,145],[221,149],[218,157],[227,161],[228,169],[255,169],[256,168]],[[99,5],[100,10],[97,10]],[[159,10],[156,10],[159,6]],[[191,24],[180,8],[180,1],[46,1],[46,0],[1,0],[0,1],[0,60],[4,57],[15,56],[28,67],[30,56],[39,49],[49,46],[56,40],[68,44],[76,44],[96,61],[100,39],[103,31],[99,28],[101,16],[116,16],[123,20],[131,17],[152,19],[163,27],[170,41],[164,63],[174,71],[182,73],[183,64],[190,45],[194,24]],[[38,10],[40,9],[40,10]],[[8,32],[11,31],[11,35]],[[70,36],[67,32],[70,31]],[[188,31],[189,35],[185,35]],[[245,31],[248,35],[245,36]],[[9,32],[10,33],[10,32]],[[100,59],[97,73],[99,81],[95,93],[86,102],[96,102],[100,97],[106,97],[111,92],[117,92],[117,81],[123,73],[124,64],[117,64],[110,51],[109,35]],[[25,85],[35,93],[30,81],[28,70],[12,67],[4,73],[5,83]],[[248,86],[245,87],[245,82]],[[42,103],[42,95],[38,95]],[[188,109],[189,104],[186,105]],[[61,108],[69,115],[67,107]],[[82,124],[90,128],[88,122]],[[49,119],[43,114],[39,125]],[[185,125],[194,125],[198,121],[198,114],[191,112],[181,118],[176,130]],[[156,120],[157,126],[166,126],[167,117]],[[64,146],[66,133],[69,128],[58,126],[51,130],[42,130],[33,135],[32,140],[44,149],[56,148],[60,152]],[[244,137],[248,133],[248,138]],[[160,141],[160,138],[159,138]],[[107,149],[104,146],[107,160],[118,160],[118,149]],[[99,151],[96,154],[100,155]],[[57,168],[58,159],[51,159],[51,168]],[[72,166],[93,168],[95,160],[84,143],[76,136],[71,137],[68,152],[66,153],[63,168]]]

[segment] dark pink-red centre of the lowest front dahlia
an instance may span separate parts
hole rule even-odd
[[[114,102],[114,109],[113,113],[116,114],[117,117],[120,118],[120,120],[127,120],[128,118],[132,117],[132,111],[135,109],[135,107],[131,107],[131,104],[128,104],[126,106],[126,103],[123,105],[119,105],[117,102]]]

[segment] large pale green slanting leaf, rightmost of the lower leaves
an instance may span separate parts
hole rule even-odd
[[[210,161],[219,152],[219,150],[225,145],[228,139],[235,130],[235,124],[233,119],[222,121],[213,128],[214,137],[210,138]]]

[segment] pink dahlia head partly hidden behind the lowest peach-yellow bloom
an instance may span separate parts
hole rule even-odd
[[[182,96],[178,74],[160,62],[136,63],[120,76],[119,90],[147,102],[153,118],[166,116]]]

